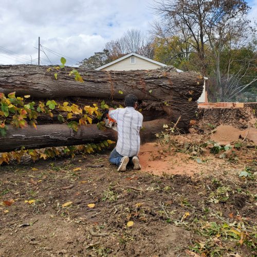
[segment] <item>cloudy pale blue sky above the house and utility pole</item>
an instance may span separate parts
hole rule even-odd
[[[75,65],[132,28],[147,32],[155,19],[154,0],[0,0],[0,64]],[[257,0],[251,0],[256,17]]]

